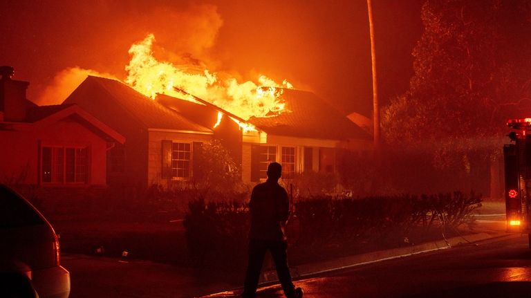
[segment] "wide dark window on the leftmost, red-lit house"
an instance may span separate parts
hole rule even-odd
[[[42,147],[41,181],[43,183],[87,183],[88,149]]]

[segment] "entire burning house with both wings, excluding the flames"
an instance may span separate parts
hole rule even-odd
[[[116,80],[89,76],[64,101],[78,104],[126,138],[109,151],[111,185],[169,185],[194,177],[202,143],[220,140],[241,165],[245,183],[265,179],[281,162],[296,173],[335,173],[343,150],[371,151],[371,136],[313,93],[285,89],[281,113],[243,120],[219,106],[168,95],[153,100]]]

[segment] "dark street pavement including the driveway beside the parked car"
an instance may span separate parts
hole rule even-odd
[[[485,221],[483,227],[488,226]],[[501,221],[492,221],[499,230]],[[494,228],[493,228],[494,230]],[[501,231],[499,231],[501,232]],[[526,234],[456,245],[295,281],[305,297],[530,297],[531,250]],[[234,285],[191,269],[145,261],[67,255],[71,297],[234,297]],[[237,285],[236,285],[237,286]],[[258,297],[283,297],[278,285]]]

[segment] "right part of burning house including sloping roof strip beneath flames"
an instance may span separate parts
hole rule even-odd
[[[333,174],[344,150],[372,151],[372,138],[315,94],[284,89],[282,113],[243,120],[196,97],[194,103],[167,95],[157,101],[201,124],[241,163],[246,183],[265,180],[269,162],[281,162],[283,179],[314,171]],[[217,121],[217,122],[216,122]]]

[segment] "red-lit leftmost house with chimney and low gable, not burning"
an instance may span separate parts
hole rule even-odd
[[[0,68],[0,179],[41,186],[106,185],[106,151],[124,137],[76,105],[37,106],[29,83]]]

